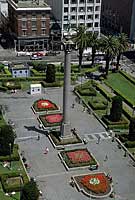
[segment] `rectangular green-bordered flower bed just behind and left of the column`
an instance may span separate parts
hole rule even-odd
[[[45,127],[60,126],[62,123],[63,116],[61,113],[40,115],[39,119]]]

